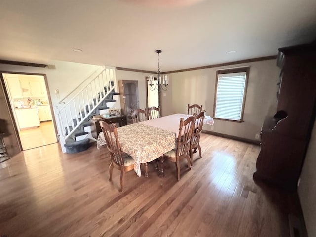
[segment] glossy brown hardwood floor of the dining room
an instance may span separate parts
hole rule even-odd
[[[208,134],[200,144],[179,182],[174,163],[163,179],[149,164],[148,178],[126,173],[123,193],[106,148],[24,151],[0,164],[0,235],[288,237],[290,195],[252,179],[260,147]]]

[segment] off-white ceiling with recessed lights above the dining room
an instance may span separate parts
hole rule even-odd
[[[166,72],[310,42],[316,0],[0,0],[0,25],[2,60]]]

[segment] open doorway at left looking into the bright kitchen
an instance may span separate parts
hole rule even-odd
[[[22,150],[57,142],[44,74],[1,73]]]

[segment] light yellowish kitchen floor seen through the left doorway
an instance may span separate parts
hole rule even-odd
[[[57,142],[52,121],[41,122],[40,127],[20,130],[19,136],[23,150]]]

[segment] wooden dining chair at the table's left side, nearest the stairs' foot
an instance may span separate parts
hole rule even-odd
[[[112,123],[111,126],[104,121],[100,121],[100,127],[103,131],[104,138],[107,143],[106,145],[111,157],[111,163],[109,167],[109,180],[112,180],[112,172],[114,167],[120,170],[120,192],[122,192],[124,188],[125,173],[134,169],[134,159],[120,150],[118,131],[115,123]]]

